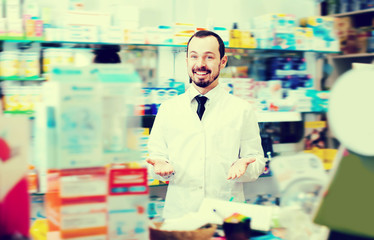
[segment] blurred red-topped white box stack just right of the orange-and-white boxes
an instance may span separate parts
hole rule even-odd
[[[146,240],[148,232],[147,169],[111,169],[108,189],[108,238]]]

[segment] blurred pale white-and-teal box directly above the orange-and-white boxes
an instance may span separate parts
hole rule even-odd
[[[58,168],[102,166],[100,87],[95,83],[44,84],[43,98],[55,122],[49,131],[56,136]]]

